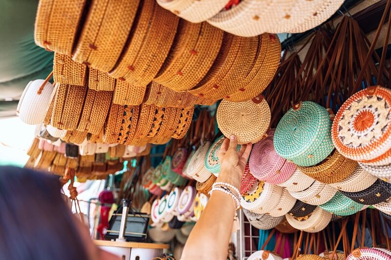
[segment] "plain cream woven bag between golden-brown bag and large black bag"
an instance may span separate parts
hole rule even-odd
[[[347,179],[337,183],[330,183],[330,185],[340,191],[359,192],[369,188],[376,180],[376,177],[365,171],[360,165],[357,165]]]

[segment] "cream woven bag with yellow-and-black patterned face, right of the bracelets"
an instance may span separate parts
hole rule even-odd
[[[240,198],[240,205],[252,212],[265,214],[277,206],[282,188],[263,181],[254,186]]]

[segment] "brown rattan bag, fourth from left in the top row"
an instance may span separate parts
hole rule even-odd
[[[181,92],[202,80],[217,58],[223,32],[212,25],[180,20],[168,59],[154,81]]]

